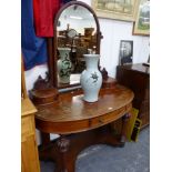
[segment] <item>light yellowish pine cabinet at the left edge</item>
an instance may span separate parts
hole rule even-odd
[[[36,142],[34,113],[31,101],[21,100],[21,170],[22,172],[40,172],[38,148]]]

